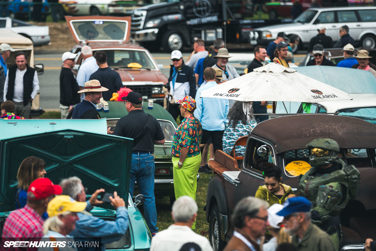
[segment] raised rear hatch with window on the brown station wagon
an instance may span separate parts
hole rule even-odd
[[[77,43],[129,40],[130,17],[65,16],[65,19]]]

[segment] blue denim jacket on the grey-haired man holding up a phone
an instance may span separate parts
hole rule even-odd
[[[92,210],[92,205],[87,201],[86,211]],[[98,217],[77,213],[79,220],[76,221],[76,229],[70,233],[77,241],[88,241],[90,238],[102,238],[102,251],[105,251],[105,243],[119,240],[127,231],[129,224],[128,211],[126,207],[118,207],[116,221],[105,221]],[[78,247],[78,250],[83,250]],[[96,248],[85,248],[98,250]]]

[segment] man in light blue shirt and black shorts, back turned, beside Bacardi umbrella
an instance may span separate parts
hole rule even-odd
[[[227,122],[229,113],[229,100],[219,98],[201,97],[201,91],[217,86],[215,82],[215,70],[206,68],[204,70],[204,79],[206,84],[200,87],[196,93],[196,111],[194,116],[202,125],[201,145],[205,145],[211,136],[214,152],[223,151],[222,138],[224,133],[224,123]],[[201,152],[203,147],[201,148]]]

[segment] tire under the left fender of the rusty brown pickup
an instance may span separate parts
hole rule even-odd
[[[209,217],[209,241],[214,251],[221,251],[226,245],[221,239],[221,222],[217,204],[212,208]]]

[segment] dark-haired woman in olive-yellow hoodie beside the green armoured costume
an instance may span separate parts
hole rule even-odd
[[[291,197],[294,197],[294,192],[290,186],[282,184],[281,170],[270,162],[259,164],[259,169],[262,170],[264,176],[264,186],[259,186],[256,191],[256,198],[267,201],[269,205],[284,204],[284,202]]]

